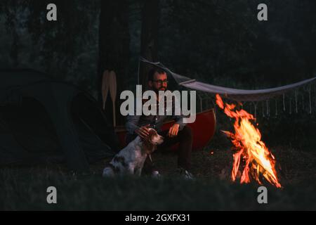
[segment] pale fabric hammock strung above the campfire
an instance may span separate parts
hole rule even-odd
[[[303,86],[304,84],[308,84],[316,79],[316,77],[312,77],[310,79],[305,79],[301,82],[297,82],[294,84],[289,84],[285,86],[278,86],[271,89],[260,89],[260,90],[243,90],[243,89],[231,89],[223,86],[215,86],[212,84],[206,84],[203,82],[198,82],[195,79],[191,79],[190,77],[185,77],[182,75],[178,75],[169,68],[166,68],[162,63],[154,63],[146,60],[145,58],[140,57],[140,60],[144,63],[149,63],[150,65],[155,65],[159,68],[162,68],[166,72],[169,72],[172,77],[176,80],[178,85],[185,86],[190,89],[195,89],[198,91],[205,91],[210,94],[221,94],[224,98],[229,98],[234,101],[264,101],[275,96],[282,95],[291,89],[296,89],[299,86]]]

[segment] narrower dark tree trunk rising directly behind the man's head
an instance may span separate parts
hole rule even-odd
[[[140,56],[147,60],[158,60],[158,27],[159,27],[159,0],[146,0],[142,10],[142,34]],[[143,90],[147,89],[147,73],[150,65],[140,63],[139,84],[143,84]]]

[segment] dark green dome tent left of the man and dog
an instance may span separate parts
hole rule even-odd
[[[117,137],[97,101],[34,70],[0,70],[0,166],[89,162],[113,155]]]

